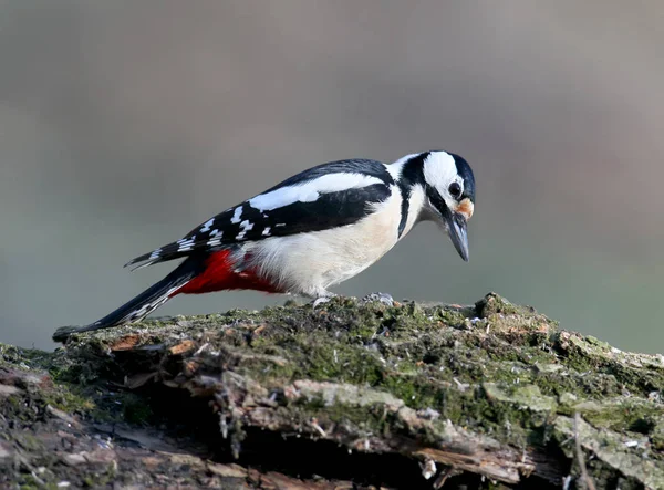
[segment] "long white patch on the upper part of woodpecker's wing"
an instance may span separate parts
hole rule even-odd
[[[339,192],[341,190],[362,188],[374,184],[383,184],[383,181],[377,177],[362,174],[339,173],[323,175],[304,184],[287,186],[272,190],[271,192],[256,196],[249,199],[249,206],[263,212],[282,208],[298,201],[313,202],[321,194]],[[239,222],[239,219],[234,222]]]

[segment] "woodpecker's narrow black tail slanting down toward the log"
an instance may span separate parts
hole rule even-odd
[[[136,298],[127,301],[117,310],[108,313],[103,319],[85,326],[65,326],[58,329],[53,334],[53,340],[55,342],[62,342],[73,333],[91,332],[141,321],[166,303],[180,288],[191,281],[191,279],[198,275],[203,270],[205,270],[205,261],[199,257],[191,256],[164,279],[146,289]]]

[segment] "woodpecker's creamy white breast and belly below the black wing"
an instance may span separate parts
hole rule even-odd
[[[390,198],[374,205],[375,212],[356,223],[247,243],[247,265],[288,292],[325,295],[329,286],[359,274],[394,247],[401,201],[394,187]]]

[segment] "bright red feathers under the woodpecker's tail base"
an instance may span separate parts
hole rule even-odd
[[[268,281],[259,278],[251,270],[236,272],[229,250],[214,252],[206,260],[206,269],[191,281],[172,294],[201,294],[224,290],[255,290],[268,293],[280,292]]]

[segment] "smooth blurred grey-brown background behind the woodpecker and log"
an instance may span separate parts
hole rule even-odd
[[[656,0],[0,1],[0,342],[53,348],[174,265],[127,260],[291,174],[443,148],[476,175],[470,262],[424,223],[335,292],[496,291],[662,352],[663,22]]]

